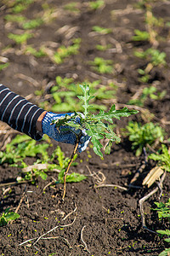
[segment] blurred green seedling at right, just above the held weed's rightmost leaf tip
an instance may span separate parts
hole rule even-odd
[[[137,105],[139,107],[144,106],[144,102],[148,98],[152,100],[161,100],[166,95],[166,90],[162,90],[161,92],[157,91],[155,86],[144,87],[141,96],[138,99],[132,99],[128,102],[130,105]]]

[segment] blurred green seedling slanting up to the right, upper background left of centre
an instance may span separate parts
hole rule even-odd
[[[76,38],[73,40],[73,44],[71,46],[65,47],[65,45],[61,45],[59,49],[54,53],[53,61],[57,64],[61,64],[65,61],[70,55],[77,55],[78,50],[80,49],[81,38]]]

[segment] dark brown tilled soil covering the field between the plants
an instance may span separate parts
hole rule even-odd
[[[62,2],[62,3],[61,3]],[[14,92],[25,96],[29,101],[39,104],[50,98],[49,89],[55,84],[55,78],[72,78],[75,84],[86,80],[93,82],[100,79],[101,84],[113,81],[117,86],[116,97],[112,100],[101,101],[107,108],[116,103],[116,108],[122,108],[133,95],[141,91],[144,84],[139,81],[139,68],[147,66],[147,61],[133,55],[134,49],[148,49],[153,44],[149,41],[133,41],[134,30],[146,30],[144,23],[145,6],[139,8],[137,3],[148,2],[156,18],[163,20],[164,24],[170,22],[170,4],[168,1],[134,1],[134,0],[105,0],[105,5],[100,9],[90,9],[88,1],[75,1],[79,11],[65,9],[68,0],[47,0],[32,2],[21,15],[26,19],[35,19],[49,9],[54,10],[52,20],[48,20],[41,26],[32,29],[34,37],[27,40],[27,44],[39,49],[46,44],[48,50],[56,50],[60,45],[69,46],[73,38],[82,38],[81,48],[77,55],[71,55],[61,64],[56,64],[50,59],[50,54],[37,58],[26,54],[25,44],[15,44],[8,38],[10,32],[22,33],[20,23],[7,22],[6,15],[12,14],[11,6],[6,1],[0,3],[0,61],[7,58],[9,65],[0,72],[0,82],[8,86]],[[142,4],[141,4],[142,5]],[[99,34],[92,31],[93,26],[111,28],[111,33]],[[61,29],[62,28],[62,29]],[[166,90],[166,95],[158,100],[147,98],[144,106],[139,108],[139,113],[122,121],[116,121],[117,132],[127,125],[129,120],[142,122],[150,121],[150,115],[144,115],[143,110],[148,109],[154,114],[152,122],[159,123],[167,132],[166,139],[170,135],[170,27],[157,28],[159,39],[155,47],[166,53],[166,66],[153,67],[150,72],[150,85],[156,85],[158,91]],[[99,51],[96,44],[111,44],[111,49]],[[12,48],[8,47],[12,46]],[[88,61],[94,61],[95,57],[103,57],[112,60],[114,72],[101,74],[94,71]],[[4,61],[4,59],[3,59]],[[41,96],[34,94],[35,90],[42,90]],[[98,102],[99,103],[99,102]],[[42,106],[42,105],[41,105]],[[49,110],[48,106],[43,107]],[[1,131],[4,124],[1,123]],[[8,137],[9,141],[15,134],[13,130]],[[1,136],[1,142],[4,143]],[[7,137],[5,138],[5,141]],[[40,142],[42,143],[42,142]],[[51,154],[59,145],[65,156],[70,157],[73,149],[70,145],[52,142],[53,146],[48,153]],[[3,144],[1,144],[3,147]],[[3,147],[4,150],[4,147]],[[27,158],[27,164],[33,164],[35,159]],[[127,137],[122,136],[122,143],[114,144],[111,154],[105,155],[104,160],[95,155],[93,149],[88,149],[78,154],[77,166],[71,167],[71,172],[79,172],[88,176],[81,183],[67,183],[65,201],[61,201],[63,185],[48,185],[57,178],[56,172],[48,173],[48,178],[37,178],[36,184],[23,183],[10,186],[2,186],[3,183],[14,182],[18,177],[18,168],[9,164],[0,166],[0,207],[1,212],[10,207],[15,211],[17,207],[20,218],[12,224],[0,227],[0,255],[158,255],[168,247],[160,236],[144,230],[139,209],[139,200],[156,188],[156,183],[150,189],[144,188],[142,182],[150,169],[156,164],[149,160],[144,166],[135,187],[127,190],[134,174],[144,163],[144,154],[139,157],[131,149],[131,143]],[[90,176],[96,173],[99,177],[105,175],[105,184],[112,187],[96,188],[96,177]],[[43,193],[44,187],[45,193]],[[121,187],[120,187],[121,186]],[[9,188],[9,189],[8,189]],[[8,190],[6,190],[8,189]],[[10,191],[10,193],[8,193]],[[167,173],[163,182],[163,194],[161,201],[169,198],[170,177]],[[23,193],[25,196],[23,197]],[[159,201],[160,191],[150,196],[144,202],[144,216],[146,226],[150,230],[166,228],[168,224],[160,222],[154,202]],[[22,201],[20,201],[22,200]],[[71,213],[70,215],[67,215]],[[65,218],[66,217],[66,218]],[[57,227],[58,226],[58,227]],[[37,241],[20,245],[20,243],[42,236],[48,230],[56,229]]]

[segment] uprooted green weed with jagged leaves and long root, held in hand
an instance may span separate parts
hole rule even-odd
[[[113,105],[108,112],[100,110],[98,114],[90,113],[91,105],[89,104],[89,101],[94,99],[94,96],[90,95],[90,89],[88,84],[85,84],[84,86],[80,85],[80,88],[82,89],[82,96],[78,96],[78,98],[82,101],[84,116],[82,117],[82,115],[75,112],[75,115],[72,117],[65,115],[63,119],[54,120],[52,122],[53,125],[56,125],[57,129],[60,128],[59,131],[68,131],[68,126],[75,128],[76,130],[71,131],[77,136],[76,147],[71,154],[71,160],[65,171],[63,200],[65,198],[66,176],[70,169],[71,163],[74,160],[74,155],[77,152],[77,146],[80,139],[77,135],[77,130],[86,129],[88,136],[91,137],[94,153],[99,155],[100,157],[103,157],[103,154],[101,152],[101,148],[103,148],[103,145],[100,143],[100,140],[107,139],[107,144],[105,145],[105,154],[110,154],[111,145],[113,142],[120,142],[120,138],[117,137],[116,133],[112,130],[113,119],[120,119],[121,117],[128,117],[133,113],[138,113],[138,111],[136,110],[128,110],[127,108],[116,110],[115,105]],[[79,123],[75,122],[77,116],[80,119]],[[62,128],[60,126],[62,126]]]

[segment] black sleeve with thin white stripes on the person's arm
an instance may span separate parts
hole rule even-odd
[[[42,138],[37,131],[37,119],[44,112],[42,108],[26,101],[3,84],[0,84],[0,120],[7,123],[14,130],[26,133],[35,140]]]

